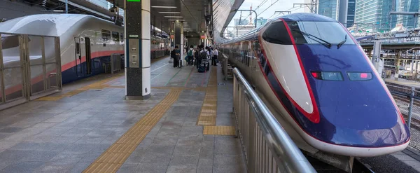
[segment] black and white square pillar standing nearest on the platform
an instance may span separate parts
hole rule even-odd
[[[125,99],[151,97],[151,0],[125,1]]]

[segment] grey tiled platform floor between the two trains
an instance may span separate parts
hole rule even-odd
[[[232,81],[168,60],[153,62],[148,100],[124,99],[122,73],[0,111],[0,172],[246,172],[239,139],[197,125],[235,132]]]

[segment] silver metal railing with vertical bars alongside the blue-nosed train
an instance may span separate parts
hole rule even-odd
[[[241,72],[232,73],[236,128],[248,172],[316,172]]]

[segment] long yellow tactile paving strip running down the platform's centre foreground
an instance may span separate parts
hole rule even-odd
[[[120,139],[112,144],[102,155],[94,160],[83,173],[87,172],[117,172],[144,137],[165,115],[169,108],[176,102],[181,90],[171,90],[158,105],[153,107],[146,116],[141,118],[130,130],[127,130]]]

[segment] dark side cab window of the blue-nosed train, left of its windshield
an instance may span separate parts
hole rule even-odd
[[[290,45],[290,36],[288,35],[286,26],[283,21],[273,22],[268,26],[265,32],[262,34],[262,39],[269,43]]]

